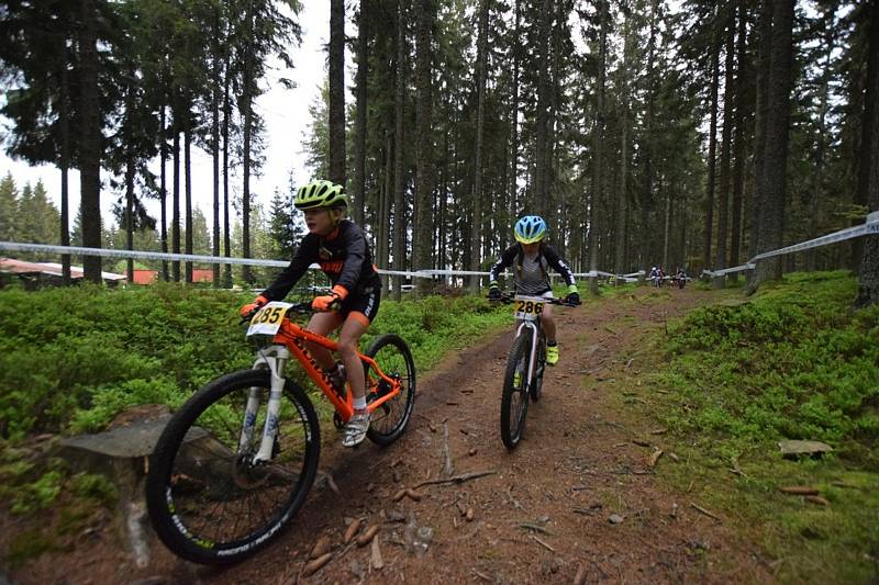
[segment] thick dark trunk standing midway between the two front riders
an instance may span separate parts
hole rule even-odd
[[[419,0],[418,32],[415,38],[415,87],[418,89],[418,109],[415,126],[418,143],[415,146],[415,227],[413,244],[415,269],[429,269],[433,266],[433,87],[431,52],[431,31],[435,21],[433,0]],[[419,279],[416,292],[429,292],[433,281]]]

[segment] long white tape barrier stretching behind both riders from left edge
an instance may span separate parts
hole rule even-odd
[[[35,251],[43,254],[69,254],[71,256],[100,256],[103,258],[133,258],[135,260],[166,260],[166,261],[180,261],[180,262],[201,262],[208,265],[238,265],[238,266],[262,266],[270,268],[286,268],[290,262],[285,260],[259,260],[256,258],[226,258],[224,256],[201,256],[196,254],[166,254],[157,251],[140,251],[140,250],[113,250],[104,248],[84,248],[81,246],[51,246],[47,244],[22,244],[18,241],[0,241],[0,250],[7,251]],[[318,265],[311,265],[312,269],[320,269]],[[474,270],[383,270],[378,269],[379,274],[388,274],[391,277],[405,277],[405,278],[421,278],[430,279],[434,277],[488,277],[488,272],[479,272]],[[638,274],[643,272],[633,272],[632,274],[622,274],[619,278],[626,282],[636,281]],[[503,275],[509,277],[510,273],[505,272]],[[610,272],[590,271],[574,274],[575,277],[589,278],[597,275],[614,277]]]

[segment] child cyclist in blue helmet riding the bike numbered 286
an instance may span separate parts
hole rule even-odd
[[[553,286],[549,284],[547,271],[552,267],[565,277],[565,282],[568,283],[568,294],[565,296],[565,301],[579,305],[580,294],[577,292],[574,273],[558,251],[544,240],[546,222],[543,221],[543,217],[537,215],[522,217],[516,222],[514,233],[516,244],[507,248],[491,267],[488,297],[501,297],[498,274],[515,262],[513,284],[516,294],[552,299]],[[546,363],[555,365],[558,363],[558,342],[556,341],[556,324],[553,320],[552,305],[544,307],[541,314],[541,325],[546,333]]]

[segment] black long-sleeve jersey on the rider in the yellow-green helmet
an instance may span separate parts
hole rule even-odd
[[[363,229],[354,222],[343,220],[330,236],[307,234],[290,265],[263,291],[263,296],[269,301],[282,300],[314,262],[320,265],[334,286],[341,284],[351,295],[381,286]]]

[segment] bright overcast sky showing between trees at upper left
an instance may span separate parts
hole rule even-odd
[[[347,15],[351,18],[351,14]],[[323,1],[302,2],[302,12],[299,14],[299,22],[302,26],[302,45],[291,49],[296,68],[292,71],[275,69],[268,74],[268,79],[263,81],[263,87],[268,87],[268,91],[256,100],[256,109],[266,122],[265,132],[265,165],[260,177],[252,177],[251,191],[256,198],[256,202],[268,206],[276,189],[287,189],[289,172],[292,170],[298,181],[309,179],[309,171],[305,170],[305,156],[302,153],[303,136],[308,132],[311,119],[308,108],[320,95],[320,87],[326,76],[325,63],[326,53],[324,47],[330,37],[330,4]],[[351,34],[352,24],[346,23],[346,32]],[[351,65],[351,55],[346,54],[346,60]],[[277,79],[287,77],[296,81],[297,87],[288,90],[283,89]],[[348,85],[351,83],[351,71],[346,70],[346,98],[351,98]],[[10,123],[8,119],[0,116],[0,124],[3,131],[8,131]],[[60,171],[49,165],[31,167],[26,162],[12,160],[5,156],[5,149],[0,153],[0,175],[5,177],[7,172],[12,172],[15,183],[21,189],[24,183],[36,184],[42,180],[48,191],[49,198],[57,207],[60,207]],[[158,172],[158,161],[155,164],[155,172]],[[170,173],[170,164],[168,165]],[[193,205],[198,206],[208,217],[208,225],[212,222],[212,165],[210,157],[203,151],[192,149],[192,199]],[[110,191],[107,184],[108,176],[101,173],[104,187],[101,191],[101,211],[104,220],[110,218],[110,210],[118,198],[118,193]],[[70,192],[70,222],[79,209],[79,172],[74,170],[69,173]],[[234,196],[238,196],[242,191],[241,178],[235,177],[230,182],[234,189]],[[182,184],[180,185],[182,190]],[[170,189],[169,189],[170,191]],[[231,194],[230,196],[233,196]],[[170,192],[169,192],[170,196]],[[222,194],[221,194],[222,196]],[[182,206],[182,203],[181,203]],[[148,200],[147,209],[158,217],[158,201]],[[182,213],[182,210],[181,210]],[[170,216],[170,212],[168,213]]]

